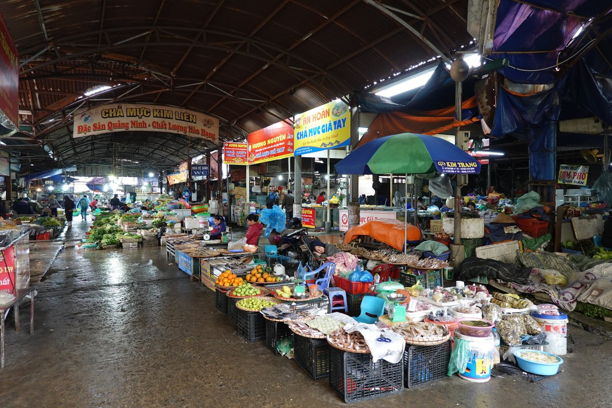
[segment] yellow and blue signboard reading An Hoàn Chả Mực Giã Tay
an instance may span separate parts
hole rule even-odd
[[[348,146],[351,109],[338,99],[297,115],[294,127],[296,156]]]

